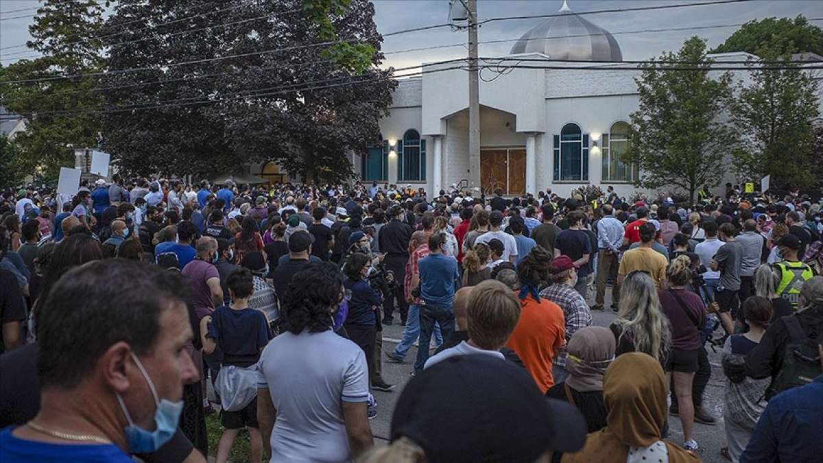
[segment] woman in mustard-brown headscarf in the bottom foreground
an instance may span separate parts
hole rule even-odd
[[[645,353],[625,353],[603,376],[603,399],[609,410],[606,428],[588,434],[577,453],[563,463],[692,463],[689,451],[663,440],[666,422],[666,376],[660,362]]]

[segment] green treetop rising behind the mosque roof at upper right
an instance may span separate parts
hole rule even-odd
[[[781,44],[779,54],[823,54],[823,29],[809,24],[802,15],[798,15],[794,20],[767,17],[760,21],[746,22],[710,53],[745,51],[761,56],[761,50],[774,50],[775,44]]]

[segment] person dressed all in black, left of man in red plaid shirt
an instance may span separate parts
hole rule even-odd
[[[394,204],[388,208],[389,222],[380,229],[378,241],[380,250],[385,254],[383,263],[387,270],[394,273],[395,281],[402,283],[406,278],[406,263],[409,260],[409,240],[412,239],[412,227],[404,220],[405,210],[400,204]],[[398,284],[393,294],[388,294],[384,298],[383,312],[384,325],[391,325],[393,321],[394,301],[398,302],[400,319],[402,324],[406,324],[406,314],[408,305],[406,297],[403,295],[403,285]]]

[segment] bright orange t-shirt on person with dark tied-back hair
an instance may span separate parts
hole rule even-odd
[[[557,352],[565,345],[563,309],[543,297],[537,302],[532,295],[521,300],[520,305],[523,307],[520,320],[506,347],[523,360],[526,370],[545,394],[555,385],[551,366]]]

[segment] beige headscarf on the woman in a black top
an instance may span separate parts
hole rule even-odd
[[[572,334],[566,351],[566,384],[578,392],[603,390],[603,374],[615,359],[615,335],[602,326],[587,326]]]

